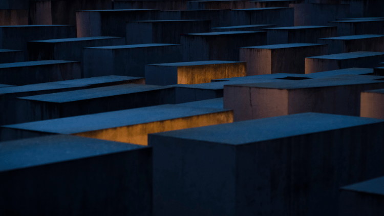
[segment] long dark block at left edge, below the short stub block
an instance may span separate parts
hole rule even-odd
[[[0,80],[4,84],[27,85],[81,77],[79,61],[24,61],[0,64]]]

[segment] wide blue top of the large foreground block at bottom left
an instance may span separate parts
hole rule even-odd
[[[67,135],[0,142],[0,172],[140,148],[146,146]]]

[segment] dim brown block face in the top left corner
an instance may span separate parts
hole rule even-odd
[[[0,9],[0,26],[23,25],[28,25],[28,10]]]

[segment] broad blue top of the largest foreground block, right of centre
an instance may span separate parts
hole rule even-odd
[[[156,135],[239,145],[379,122],[384,123],[384,120],[322,113],[301,113],[181,129],[157,133]]]

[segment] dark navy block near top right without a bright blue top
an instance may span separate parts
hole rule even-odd
[[[328,26],[328,21],[348,18],[350,6],[336,4],[290,4],[294,8],[294,26]]]

